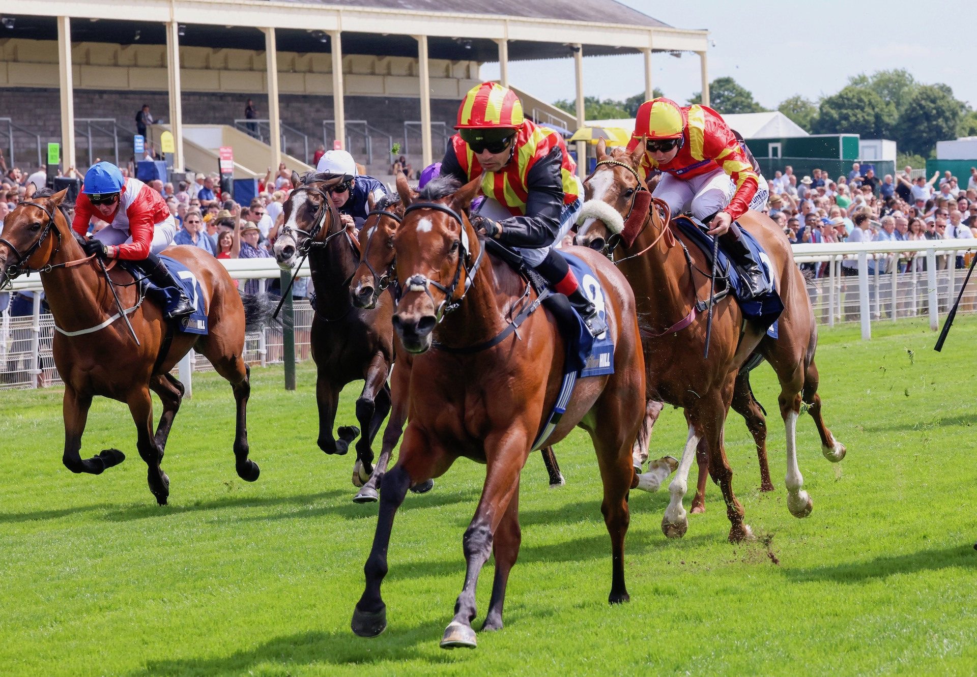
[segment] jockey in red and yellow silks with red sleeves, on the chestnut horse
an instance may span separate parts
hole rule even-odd
[[[766,204],[767,183],[733,130],[712,108],[678,106],[659,97],[638,108],[628,150],[642,140],[639,172],[662,173],[655,196],[668,203],[672,214],[688,210],[708,224],[708,233],[720,237],[743,273],[750,295],[759,293],[763,274],[734,222],[747,209]]]

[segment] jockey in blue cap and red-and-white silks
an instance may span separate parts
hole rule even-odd
[[[84,237],[93,216],[108,226],[85,241],[86,254],[128,261],[157,287],[178,290],[180,301],[167,314],[169,319],[193,312],[183,286],[156,256],[170,246],[177,230],[162,195],[138,179],[123,178],[110,162],[97,162],[85,173],[71,228]]]

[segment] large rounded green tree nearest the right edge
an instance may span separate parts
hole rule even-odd
[[[899,116],[899,148],[925,155],[936,142],[956,139],[965,108],[947,89],[946,85],[922,85],[916,89]]]

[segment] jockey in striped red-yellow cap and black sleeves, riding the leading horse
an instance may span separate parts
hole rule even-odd
[[[576,222],[583,194],[563,138],[527,120],[519,98],[492,82],[468,92],[457,122],[441,174],[462,183],[483,177],[486,200],[472,225],[515,248],[567,296],[592,335],[603,333],[607,324],[553,246]]]

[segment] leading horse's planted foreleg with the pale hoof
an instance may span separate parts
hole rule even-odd
[[[465,552],[465,583],[454,604],[454,618],[447,624],[441,640],[443,649],[476,646],[472,620],[478,614],[475,591],[479,573],[492,550],[495,529],[505,516],[512,497],[519,487],[519,474],[526,463],[529,436],[522,431],[507,431],[486,441],[486,481],[482,488],[475,516],[462,540]],[[501,604],[501,601],[499,601]]]

